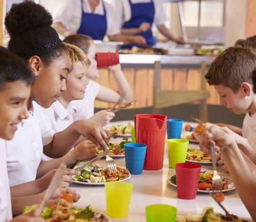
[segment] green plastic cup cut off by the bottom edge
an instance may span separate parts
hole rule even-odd
[[[177,208],[165,204],[153,204],[146,206],[147,222],[175,222]]]

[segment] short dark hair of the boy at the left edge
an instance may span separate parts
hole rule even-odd
[[[32,71],[24,59],[0,46],[0,91],[5,88],[6,83],[18,80],[32,84]]]

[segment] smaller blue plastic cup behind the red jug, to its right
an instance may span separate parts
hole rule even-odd
[[[180,139],[183,119],[167,119],[167,138]]]

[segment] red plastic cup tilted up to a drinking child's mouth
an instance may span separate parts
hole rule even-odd
[[[119,64],[119,53],[96,53],[98,68]]]

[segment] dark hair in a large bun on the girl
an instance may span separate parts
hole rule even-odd
[[[5,27],[10,36],[9,50],[24,59],[39,56],[50,64],[66,51],[51,27],[52,22],[52,15],[39,4],[29,0],[13,4],[5,17]]]

